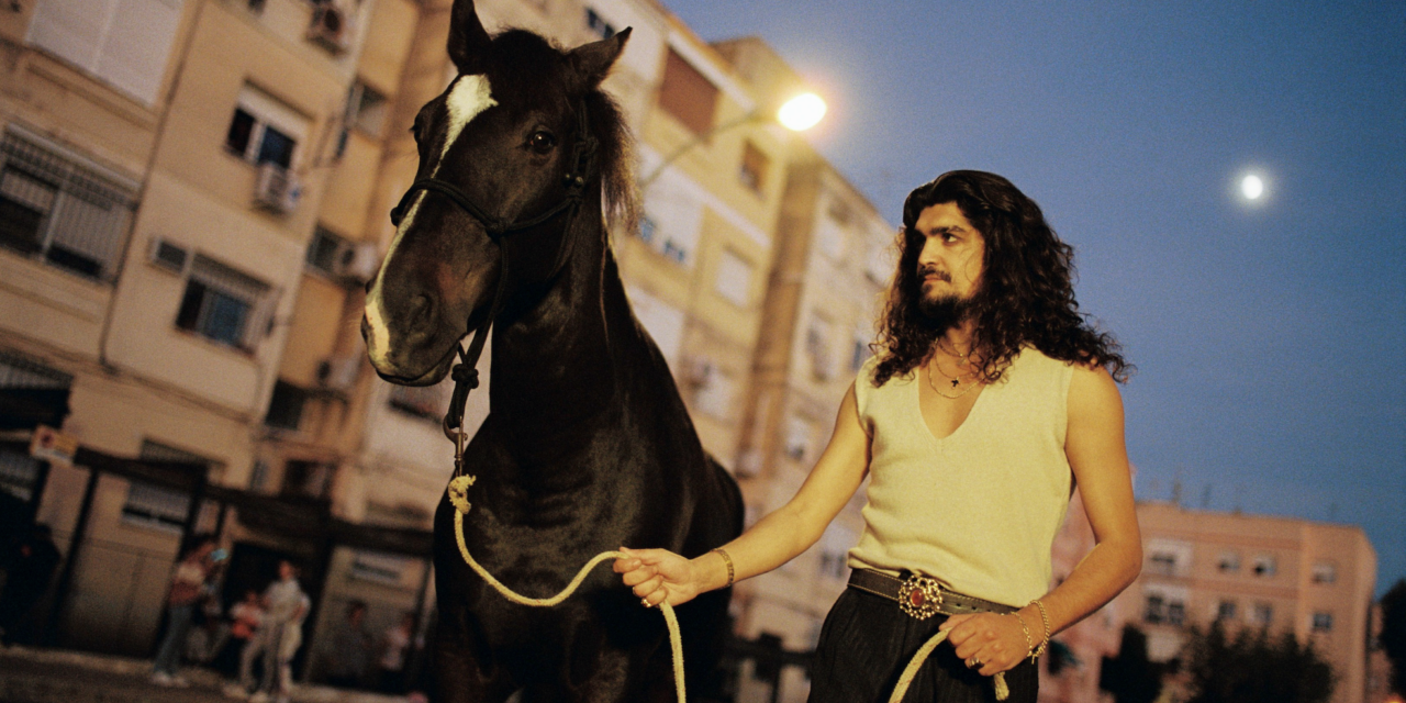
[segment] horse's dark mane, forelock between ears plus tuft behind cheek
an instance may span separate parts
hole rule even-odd
[[[523,80],[519,90],[538,87],[529,77],[553,75],[553,65],[565,51],[553,41],[529,30],[509,28],[494,37],[496,67],[515,80]],[[537,93],[537,100],[554,101],[561,94]],[[595,132],[596,173],[600,176],[603,212],[609,224],[634,232],[640,224],[640,191],[634,183],[634,138],[624,121],[620,105],[600,87],[585,94],[585,105]],[[572,112],[576,105],[565,105]]]

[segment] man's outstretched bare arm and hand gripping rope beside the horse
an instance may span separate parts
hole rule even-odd
[[[839,405],[830,444],[796,496],[723,547],[733,558],[735,581],[780,567],[815,544],[868,471],[869,436],[859,422],[851,385]],[[627,551],[633,558],[616,560],[614,571],[651,605],[665,598],[669,605],[685,603],[727,585],[727,562],[714,553],[685,560],[666,550]]]

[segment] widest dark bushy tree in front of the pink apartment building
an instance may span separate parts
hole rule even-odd
[[[1333,666],[1294,633],[1243,628],[1232,638],[1215,623],[1192,630],[1187,652],[1188,703],[1326,703],[1333,695]]]

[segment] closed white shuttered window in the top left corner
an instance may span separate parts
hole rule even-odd
[[[183,0],[38,0],[28,44],[141,100],[156,103]]]

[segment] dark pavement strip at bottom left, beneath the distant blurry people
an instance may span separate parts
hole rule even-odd
[[[181,669],[190,688],[150,682],[152,662],[65,650],[0,650],[0,703],[239,703],[225,697],[225,681],[201,668]],[[295,703],[405,703],[330,686],[294,685]]]

